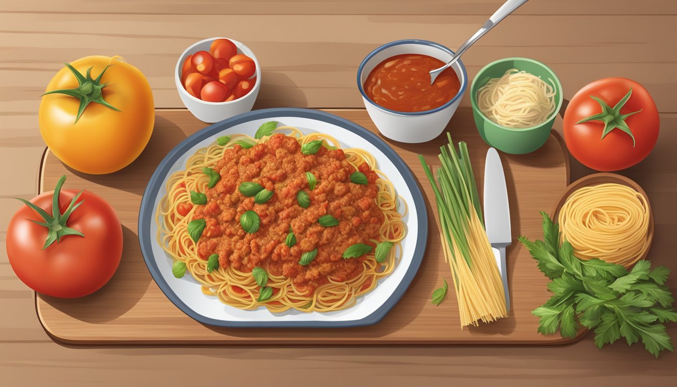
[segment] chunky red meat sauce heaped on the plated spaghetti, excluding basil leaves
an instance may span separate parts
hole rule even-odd
[[[378,176],[368,165],[359,166],[368,184],[353,184],[349,176],[356,169],[343,150],[323,146],[315,155],[303,155],[295,138],[276,134],[265,144],[225,150],[213,169],[221,174],[221,180],[204,192],[207,203],[198,206],[193,217],[206,220],[198,240],[200,258],[206,260],[218,253],[221,266],[242,272],[263,266],[269,274],[306,286],[309,293],[327,283],[328,277],[346,281],[364,270],[364,256],[343,259],[341,254],[355,243],[374,247],[370,239],[378,239],[384,221],[376,204]],[[318,180],[314,190],[308,186],[307,171]],[[274,196],[265,204],[254,203],[253,197],[238,190],[242,182],[259,183]],[[299,190],[309,194],[309,207],[297,203]],[[240,225],[240,216],[248,210],[255,211],[261,220],[253,234]],[[320,225],[318,218],[326,214],[339,220],[339,225]],[[297,239],[291,248],[284,243],[290,227]],[[315,248],[315,260],[307,266],[299,264],[301,254]]]

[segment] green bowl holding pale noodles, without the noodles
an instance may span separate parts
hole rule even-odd
[[[554,82],[555,91],[555,109],[554,113],[548,117],[548,120],[532,127],[505,127],[498,125],[494,121],[488,119],[483,115],[477,107],[477,90],[485,85],[489,79],[500,78],[510,68],[517,68],[517,70],[524,70],[527,73],[541,77],[546,82],[552,79]],[[554,119],[562,107],[562,85],[554,72],[545,64],[538,62],[538,60],[528,58],[504,58],[491,62],[484,66],[475,79],[470,88],[470,100],[473,104],[473,116],[475,117],[475,125],[479,135],[482,136],[487,144],[493,146],[498,150],[506,153],[513,153],[521,155],[523,153],[533,152],[540,148],[548,140],[550,130]]]

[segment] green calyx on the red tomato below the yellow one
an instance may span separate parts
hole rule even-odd
[[[66,226],[66,222],[68,222],[68,217],[70,214],[75,211],[80,205],[84,202],[84,199],[80,201],[80,203],[75,203],[80,195],[83,193],[84,190],[81,190],[78,192],[77,195],[73,197],[73,199],[70,201],[70,204],[68,205],[68,208],[66,208],[66,211],[64,213],[60,213],[59,211],[59,194],[61,192],[61,187],[64,185],[64,182],[66,182],[66,175],[62,176],[59,181],[56,183],[56,188],[54,188],[54,193],[52,195],[52,201],[51,201],[51,216],[47,211],[44,209],[41,209],[37,205],[30,203],[30,201],[27,201],[26,199],[21,199],[21,198],[16,198],[22,201],[25,205],[33,209],[35,212],[37,212],[44,220],[45,222],[37,222],[37,220],[30,220],[31,222],[37,223],[41,226],[47,227],[47,241],[45,241],[45,246],[42,248],[43,250],[49,247],[52,243],[56,241],[56,243],[59,243],[61,239],[66,236],[66,235],[79,235],[80,237],[85,237],[85,235],[82,232],[79,232],[78,230],[74,230],[68,226]]]

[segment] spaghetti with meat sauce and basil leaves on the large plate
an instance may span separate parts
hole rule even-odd
[[[160,245],[230,306],[348,308],[399,260],[399,197],[366,150],[276,131],[286,134],[236,134],[190,156],[160,201]]]

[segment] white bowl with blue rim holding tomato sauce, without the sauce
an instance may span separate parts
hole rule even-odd
[[[364,92],[364,81],[380,62],[391,56],[401,54],[423,54],[445,63],[449,62],[454,56],[452,50],[439,43],[418,39],[393,41],[374,49],[371,54],[362,60],[362,64],[357,69],[357,87],[359,92],[362,93],[364,106],[378,131],[391,140],[409,143],[433,140],[442,133],[452,115],[456,112],[468,85],[468,74],[460,60],[452,65],[456,75],[458,75],[460,89],[452,100],[438,108],[412,113],[390,110],[379,106],[367,97]]]

